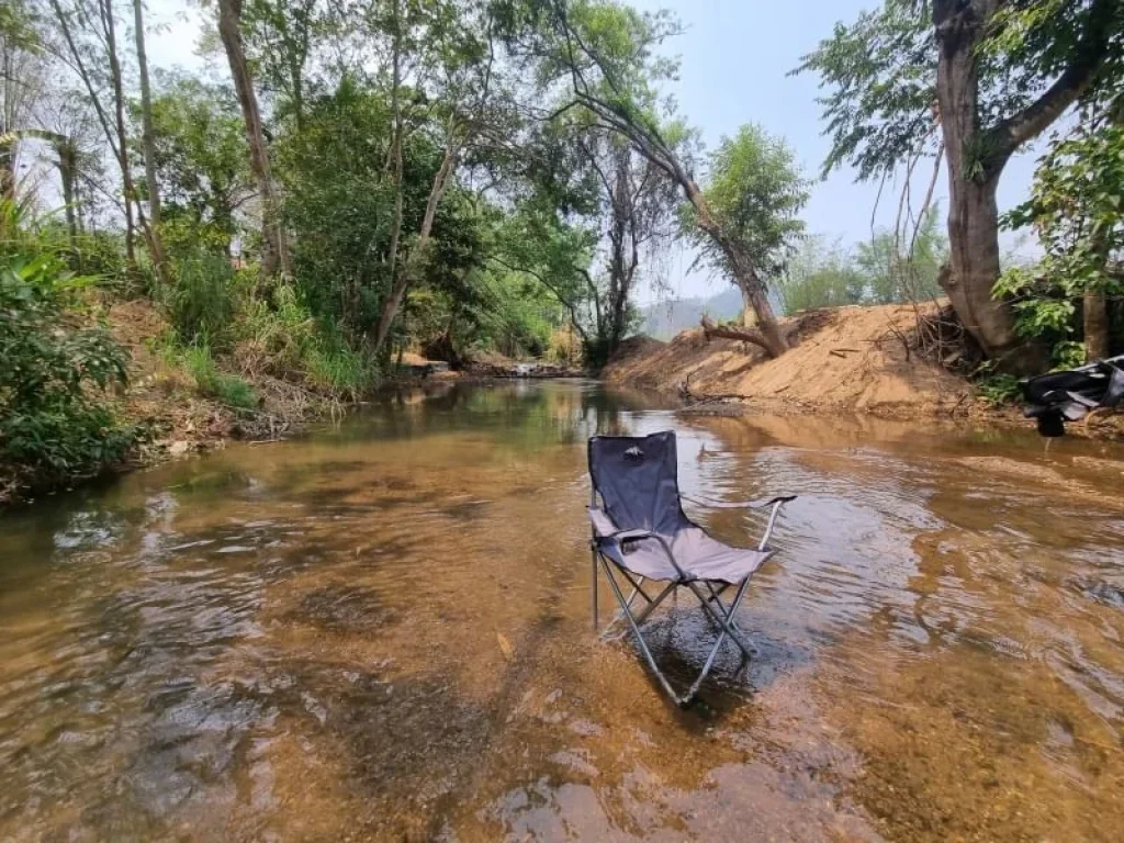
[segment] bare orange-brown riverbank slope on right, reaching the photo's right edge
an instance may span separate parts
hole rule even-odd
[[[769,360],[749,343],[708,339],[701,328],[668,343],[628,341],[601,377],[611,384],[676,395],[688,404],[751,411],[973,418],[1033,427],[997,406],[964,374],[955,343],[941,343],[936,305],[824,308],[785,321],[794,347]],[[1124,417],[1070,425],[1077,435],[1118,437]]]

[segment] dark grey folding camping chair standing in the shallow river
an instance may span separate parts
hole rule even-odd
[[[747,550],[713,538],[683,514],[680,501],[690,498],[679,493],[676,434],[671,430],[643,437],[593,436],[589,441],[589,475],[592,481],[589,518],[592,522],[593,628],[597,629],[597,568],[600,563],[620,604],[620,615],[609,626],[622,617],[628,622],[660,685],[676,703],[686,706],[710,672],[727,637],[746,658],[753,652],[734,614],[750,579],[773,553],[769,537],[777,514],[795,496],[773,498],[764,504],[705,505],[771,509],[764,536],[755,550]],[[632,586],[627,598],[614,572]],[[650,580],[667,584],[653,596],[643,588]],[[656,607],[679,587],[686,587],[699,599],[704,614],[719,629],[701,672],[683,695],[676,692],[660,670],[641,631]],[[722,596],[728,589],[734,589],[734,597],[729,604],[724,604]],[[634,613],[633,602],[637,597],[646,605]]]

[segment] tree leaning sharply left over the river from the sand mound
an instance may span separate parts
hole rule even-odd
[[[683,129],[661,125],[660,108],[650,81],[671,67],[654,55],[665,38],[679,31],[667,15],[642,15],[628,7],[598,0],[538,0],[540,37],[529,52],[540,63],[542,81],[568,81],[572,100],[605,128],[617,133],[662,171],[690,203],[698,229],[722,253],[723,264],[758,317],[745,338],[771,356],[788,348],[773,314],[761,269],[736,233],[727,232],[695,180],[690,162],[677,152]]]

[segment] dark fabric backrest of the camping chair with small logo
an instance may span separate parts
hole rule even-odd
[[[676,434],[593,436],[589,475],[618,529],[672,535],[690,526],[679,504]]]

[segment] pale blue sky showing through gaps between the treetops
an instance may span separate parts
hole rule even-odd
[[[827,138],[821,134],[818,80],[814,74],[789,76],[788,72],[831,34],[836,21],[850,22],[878,1],[632,0],[641,9],[670,9],[686,26],[686,33],[667,45],[667,53],[680,58],[679,81],[669,85],[669,92],[678,100],[681,116],[703,132],[708,147],[744,123],[759,123],[792,145],[809,176],[816,176],[828,149]],[[151,21],[162,26],[152,37],[153,63],[201,66],[193,54],[199,15],[198,7],[183,0],[154,0]],[[1001,208],[1024,198],[1033,167],[1033,153],[1008,165],[999,185]],[[931,167],[922,169],[925,172],[915,175],[917,197],[924,193],[922,182],[932,173]],[[836,171],[826,181],[817,178],[804,215],[808,230],[840,237],[845,244],[869,238],[877,192],[877,184],[854,183],[854,173],[849,170]],[[937,197],[945,193],[942,173]],[[878,225],[892,225],[898,194],[896,185],[887,184]],[[720,279],[688,274],[691,260],[686,248],[676,247],[669,255],[663,269],[673,297],[707,296],[725,288]],[[655,298],[651,290],[640,292],[642,301]]]

